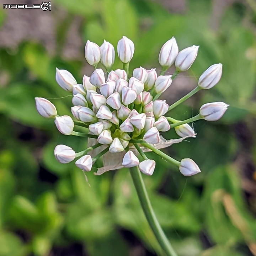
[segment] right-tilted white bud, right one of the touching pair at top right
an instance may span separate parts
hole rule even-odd
[[[188,70],[197,57],[199,46],[191,46],[181,50],[175,60],[175,66],[179,71]]]

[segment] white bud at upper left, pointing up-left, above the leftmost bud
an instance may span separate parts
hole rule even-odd
[[[65,69],[57,69],[56,68],[56,81],[62,89],[65,91],[72,92],[73,86],[77,84],[74,76]]]

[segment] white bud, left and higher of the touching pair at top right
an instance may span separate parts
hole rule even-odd
[[[158,61],[162,67],[170,68],[174,64],[178,55],[178,45],[176,39],[172,37],[161,48]]]

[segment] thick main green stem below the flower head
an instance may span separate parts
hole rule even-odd
[[[177,256],[169,240],[166,238],[166,235],[162,230],[158,219],[156,218],[138,166],[130,168],[130,175],[132,176],[133,184],[138,194],[145,217],[148,220],[149,226],[152,229],[156,239],[158,240],[162,250],[167,256]]]

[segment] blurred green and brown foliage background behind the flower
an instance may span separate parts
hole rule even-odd
[[[217,86],[170,112],[183,120],[204,103],[230,104],[220,121],[193,124],[196,139],[165,149],[177,160],[192,158],[202,173],[186,178],[151,154],[157,168],[144,181],[179,256],[256,255],[255,0],[52,0],[51,11],[2,8],[38,0],[0,4],[0,256],[163,255],[128,170],[94,176],[94,169],[89,187],[74,163],[53,155],[57,144],[80,151],[86,140],[60,134],[34,103],[53,98],[60,115],[70,114],[71,97],[58,99],[68,94],[55,82],[55,67],[81,83],[93,71],[87,39],[116,47],[123,35],[135,44],[130,68],[158,74],[160,48],[172,36],[180,50],[200,46],[191,70],[162,96],[169,104],[223,63]],[[163,135],[177,138],[173,130]]]

